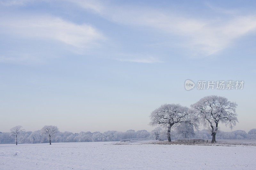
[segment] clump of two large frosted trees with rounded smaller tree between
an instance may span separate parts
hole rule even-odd
[[[191,137],[195,135],[194,127],[197,128],[199,124],[203,124],[204,127],[211,128],[212,143],[215,143],[219,123],[232,129],[238,122],[236,107],[235,102],[216,95],[200,99],[192,104],[191,108],[180,104],[164,104],[151,112],[150,124],[166,128],[169,142],[171,142],[172,126],[176,127],[181,137]]]

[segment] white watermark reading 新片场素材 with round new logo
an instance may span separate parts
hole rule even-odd
[[[217,80],[217,81],[204,81],[198,80],[197,84],[195,84],[192,80],[187,79],[185,81],[185,89],[192,90],[196,86],[197,90],[243,90],[244,80]]]

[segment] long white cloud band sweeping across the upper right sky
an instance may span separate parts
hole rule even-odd
[[[185,48],[196,55],[208,56],[227,48],[237,38],[256,29],[256,16],[232,16],[218,19],[182,17],[138,6],[116,6],[99,1],[72,1],[100,16],[124,25],[151,27],[158,32],[178,35]],[[233,14],[233,13],[232,13]],[[179,40],[177,40],[179,41]],[[181,41],[181,40],[180,40]],[[177,42],[177,43],[180,43]]]

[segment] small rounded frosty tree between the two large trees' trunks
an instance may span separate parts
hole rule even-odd
[[[191,138],[195,136],[194,126],[192,124],[180,123],[175,129],[180,138]]]

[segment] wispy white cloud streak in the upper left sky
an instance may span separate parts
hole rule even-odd
[[[41,38],[59,41],[77,48],[91,48],[98,45],[104,36],[94,27],[78,25],[51,16],[23,16],[0,18],[0,33],[25,38]]]

